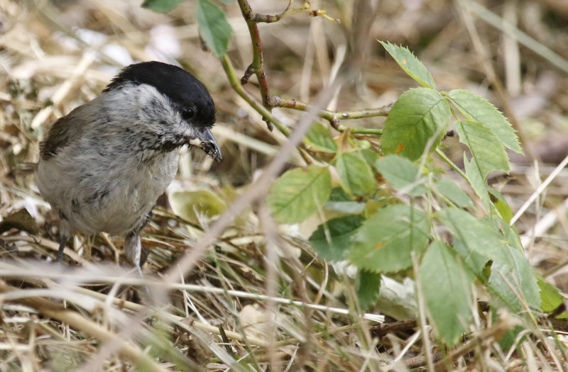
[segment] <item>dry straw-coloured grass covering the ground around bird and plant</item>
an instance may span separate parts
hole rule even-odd
[[[518,349],[501,350],[495,339],[515,320],[501,314],[492,323],[474,309],[475,329],[457,349],[444,350],[415,320],[400,317],[403,322],[384,328],[376,322],[381,317],[361,316],[354,280],[315,257],[306,242],[317,222],[284,230],[266,218],[263,203],[250,205],[202,257],[186,257],[193,269],[183,276],[175,263],[202,244],[211,220],[187,212],[182,201],[160,199],[143,232],[150,250],[143,269],[157,279],[158,298],[169,286],[168,306],[140,305],[133,290],[140,280],[125,266],[120,239],[75,239],[75,252],[62,266],[50,263],[58,218],[38,195],[26,163],[37,162],[38,141],[50,123],[97,96],[125,64],[175,58],[204,81],[217,104],[214,134],[223,162],[185,154],[172,193],[212,191],[223,210],[285,141],[266,130],[231,90],[219,61],[202,49],[193,1],[168,15],[140,3],[0,0],[0,371],[126,371],[136,365],[145,371],[404,371],[429,358],[435,363],[446,351],[440,370],[567,367],[565,332],[553,337],[547,322]],[[360,71],[332,108],[383,106],[414,83],[375,40],[408,45],[440,89],[485,96],[515,125],[526,157],[513,159],[510,177],[496,176],[492,184],[518,210],[568,154],[568,9],[560,0],[488,3],[530,35],[530,43],[507,38],[488,24],[486,13],[466,11],[459,1],[313,1],[341,23],[300,13],[261,25],[268,84],[277,94],[313,101],[339,64],[353,59]],[[286,4],[251,1],[259,13],[279,13]],[[234,29],[229,55],[242,73],[251,40],[238,7],[226,11]],[[543,46],[559,62],[540,55]],[[255,87],[252,79],[246,89],[258,94]],[[298,118],[285,109],[275,113],[290,125]],[[457,159],[462,151],[458,147]],[[292,157],[295,162],[302,159]],[[567,171],[560,171],[517,224],[531,263],[564,292],[567,182]],[[31,218],[17,213],[22,208]],[[405,300],[398,305],[413,306]],[[379,305],[372,312],[395,313]],[[557,327],[568,330],[565,323]]]

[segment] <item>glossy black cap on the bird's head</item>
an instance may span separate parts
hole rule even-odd
[[[155,61],[131,64],[124,67],[103,92],[121,89],[126,84],[154,86],[180,111],[183,108],[195,110],[197,124],[210,127],[215,122],[215,105],[209,91],[185,69]]]

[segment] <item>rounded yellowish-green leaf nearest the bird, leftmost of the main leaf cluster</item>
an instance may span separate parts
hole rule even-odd
[[[324,205],[331,191],[329,169],[317,165],[292,169],[274,182],[268,208],[278,222],[301,222]]]

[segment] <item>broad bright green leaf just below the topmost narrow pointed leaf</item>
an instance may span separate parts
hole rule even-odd
[[[381,145],[385,154],[418,159],[434,150],[449,125],[449,105],[434,89],[415,88],[398,97],[388,113]]]

